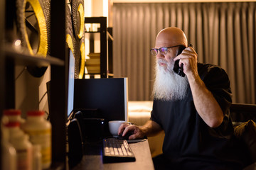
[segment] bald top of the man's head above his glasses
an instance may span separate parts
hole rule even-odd
[[[185,47],[188,47],[186,35],[180,28],[164,28],[156,36],[156,47],[171,47],[175,45],[184,45]]]

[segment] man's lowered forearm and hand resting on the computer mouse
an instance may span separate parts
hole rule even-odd
[[[149,120],[143,126],[122,124],[119,127],[118,134],[122,134],[124,136],[127,134],[127,132],[132,132],[133,135],[129,136],[129,140],[134,140],[143,138],[145,136],[154,136],[161,132],[161,130],[162,128],[158,123],[154,122],[153,120]]]

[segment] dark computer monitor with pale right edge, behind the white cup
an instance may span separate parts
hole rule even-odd
[[[127,121],[127,78],[75,79],[74,111],[85,118]]]

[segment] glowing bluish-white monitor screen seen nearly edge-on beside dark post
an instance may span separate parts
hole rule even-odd
[[[68,116],[73,111],[74,104],[74,83],[75,83],[75,57],[70,50],[68,65]]]

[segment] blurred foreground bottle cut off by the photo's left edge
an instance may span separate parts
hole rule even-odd
[[[16,150],[9,143],[9,132],[1,126],[1,169],[16,170]]]

